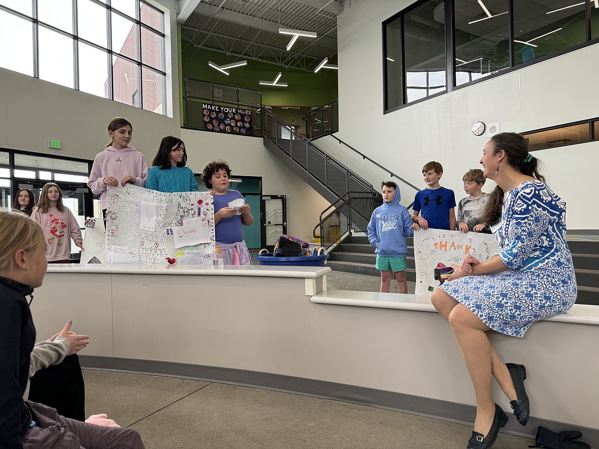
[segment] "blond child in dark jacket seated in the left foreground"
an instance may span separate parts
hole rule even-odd
[[[46,274],[47,242],[38,223],[7,210],[0,210],[0,233],[0,447],[143,448],[133,429],[82,423],[23,401],[35,343],[29,304]]]

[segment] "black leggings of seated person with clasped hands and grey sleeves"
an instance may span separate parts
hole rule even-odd
[[[29,384],[29,401],[55,408],[67,418],[85,421],[85,385],[77,354],[36,372]]]

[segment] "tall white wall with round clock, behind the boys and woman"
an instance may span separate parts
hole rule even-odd
[[[383,114],[382,22],[411,3],[360,1],[339,16],[338,136],[412,184],[425,187],[422,166],[437,160],[444,168],[441,185],[455,190],[456,199],[464,197],[462,175],[479,166],[488,140],[472,134],[477,120],[525,132],[599,115],[599,90],[590,78],[597,44]],[[580,172],[597,165],[599,142],[534,155],[545,163],[550,187],[568,203],[568,227],[597,229],[599,210],[588,207],[586,195],[594,179]],[[491,190],[488,184],[483,190]]]

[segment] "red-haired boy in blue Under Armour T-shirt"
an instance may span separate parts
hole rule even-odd
[[[422,175],[426,189],[416,193],[412,221],[422,229],[455,229],[455,195],[439,184],[443,166],[433,160],[422,167]]]

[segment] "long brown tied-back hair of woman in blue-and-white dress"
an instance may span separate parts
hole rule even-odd
[[[539,159],[528,153],[528,141],[523,136],[515,132],[501,132],[495,134],[491,138],[493,144],[493,154],[505,151],[507,163],[514,169],[524,175],[537,178],[539,181],[545,182],[545,177],[539,173],[539,168],[542,163]],[[531,160],[526,162],[525,159],[531,156]],[[483,222],[488,225],[494,225],[501,219],[501,207],[503,205],[503,190],[500,186],[495,187],[495,190],[489,195],[483,214]]]

